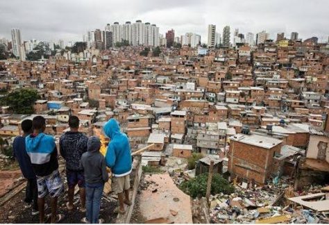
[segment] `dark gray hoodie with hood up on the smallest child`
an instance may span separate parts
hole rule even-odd
[[[101,141],[92,136],[87,142],[87,152],[81,156],[81,165],[85,170],[86,183],[105,183],[108,181],[108,172],[104,156],[99,152]]]

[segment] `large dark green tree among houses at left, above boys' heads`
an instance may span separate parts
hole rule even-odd
[[[35,89],[20,89],[10,92],[4,97],[4,103],[9,109],[16,114],[32,114],[34,113],[33,104],[39,99],[39,94]]]

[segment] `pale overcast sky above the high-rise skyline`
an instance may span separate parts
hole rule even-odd
[[[88,30],[105,28],[136,19],[160,27],[165,34],[193,32],[207,40],[208,24],[222,33],[228,25],[231,36],[266,30],[270,38],[292,31],[299,38],[317,36],[328,40],[327,0],[0,0],[0,38],[10,38],[11,28],[20,28],[24,40],[82,40]]]

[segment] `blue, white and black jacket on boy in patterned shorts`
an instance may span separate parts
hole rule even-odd
[[[35,175],[47,176],[58,169],[56,144],[51,135],[28,135],[25,138],[25,147]]]

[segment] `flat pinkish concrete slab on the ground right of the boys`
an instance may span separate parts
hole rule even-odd
[[[151,183],[140,195],[140,213],[146,220],[164,217],[175,224],[193,223],[190,197],[177,188],[169,174],[146,174],[144,179]]]

